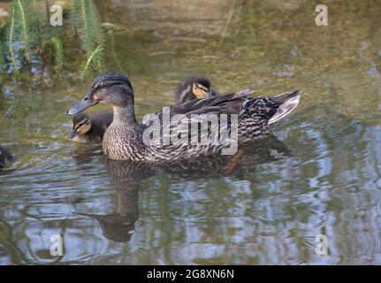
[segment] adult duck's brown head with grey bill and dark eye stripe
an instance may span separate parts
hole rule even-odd
[[[97,103],[110,103],[113,106],[126,106],[133,103],[133,86],[123,73],[102,73],[93,82],[83,99],[72,106],[67,114],[84,111]]]

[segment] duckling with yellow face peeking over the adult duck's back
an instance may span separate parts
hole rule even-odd
[[[176,89],[177,103],[185,103],[194,99],[217,96],[217,91],[211,87],[210,80],[204,77],[192,76],[184,80]]]

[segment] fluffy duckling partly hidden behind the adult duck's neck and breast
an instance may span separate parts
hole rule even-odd
[[[72,142],[83,142],[88,144],[102,143],[103,134],[110,126],[113,114],[97,113],[89,116],[86,113],[78,113],[72,118],[72,133],[69,139]]]

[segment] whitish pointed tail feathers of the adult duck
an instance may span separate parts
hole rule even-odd
[[[278,103],[278,107],[275,114],[269,119],[269,125],[274,124],[280,119],[283,119],[291,113],[301,100],[301,93],[299,90],[293,92],[286,92],[279,96],[274,96],[271,99],[274,103]]]

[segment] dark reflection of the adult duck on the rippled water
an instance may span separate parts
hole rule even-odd
[[[116,187],[115,211],[107,215],[88,213],[75,214],[95,218],[103,235],[118,242],[130,241],[134,224],[139,218],[139,190],[141,182],[159,174],[167,174],[173,179],[194,180],[230,176],[245,179],[247,172],[255,166],[290,157],[291,152],[283,142],[271,135],[262,142],[255,142],[231,156],[204,157],[187,161],[164,164],[136,163],[106,158],[106,172]]]

